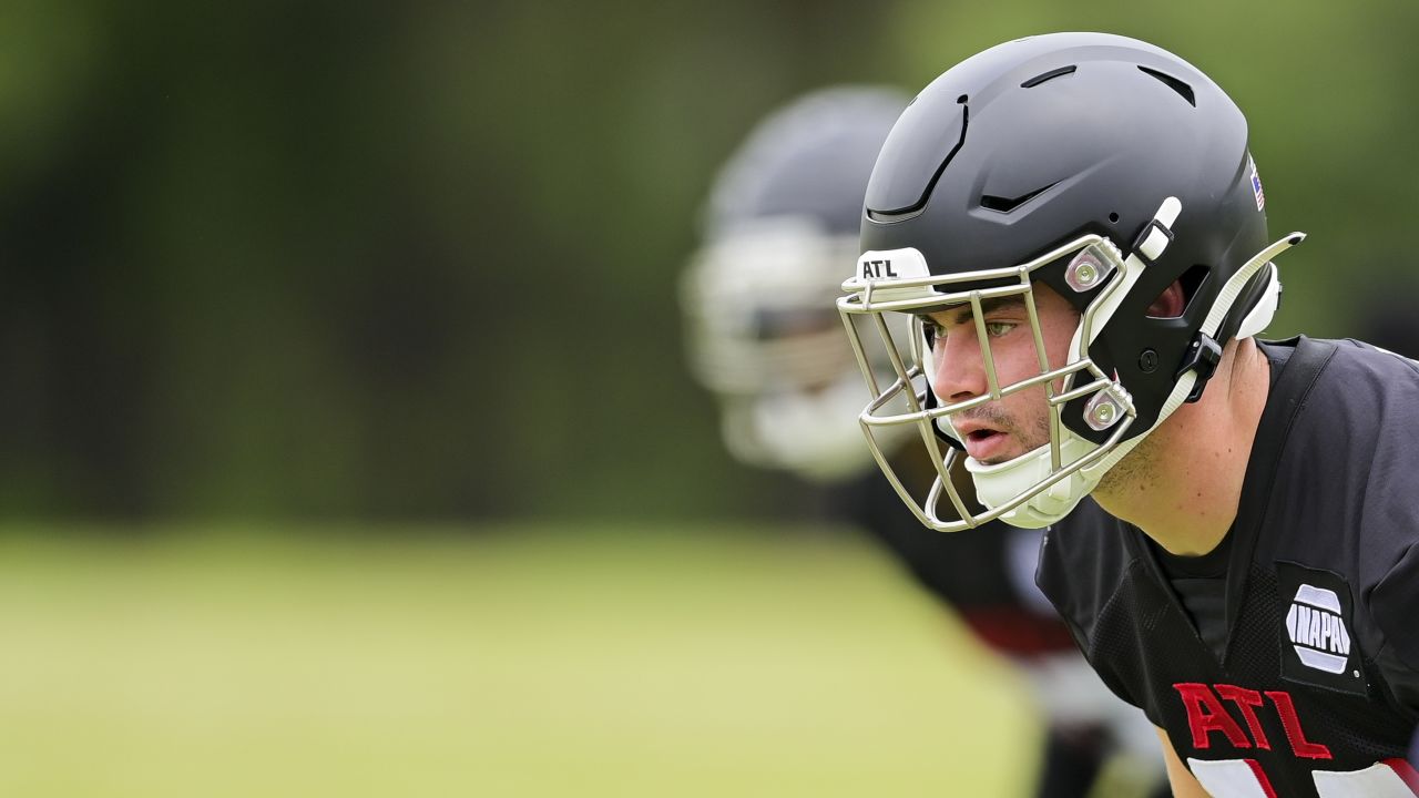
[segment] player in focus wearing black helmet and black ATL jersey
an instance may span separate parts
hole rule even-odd
[[[1419,794],[1419,366],[1256,338],[1303,237],[1271,243],[1205,74],[1039,35],[900,115],[839,301],[874,447],[908,429],[937,471],[914,493],[883,461],[898,494],[944,532],[1047,530],[1039,585],[1176,795]]]

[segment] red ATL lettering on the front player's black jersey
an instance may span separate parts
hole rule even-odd
[[[1266,706],[1261,693],[1237,687],[1236,684],[1202,684],[1198,682],[1181,682],[1172,686],[1182,697],[1182,706],[1188,710],[1188,728],[1192,730],[1193,748],[1210,748],[1212,734],[1220,733],[1233,748],[1264,748],[1271,750],[1271,741],[1261,730],[1261,720],[1256,710]],[[1266,697],[1271,700],[1276,716],[1286,730],[1286,740],[1291,744],[1291,753],[1307,760],[1331,758],[1330,748],[1320,743],[1311,743],[1301,730],[1301,718],[1296,714],[1296,703],[1290,693],[1281,690],[1267,690]],[[1250,731],[1232,717],[1222,701],[1230,701],[1242,713],[1242,720]]]

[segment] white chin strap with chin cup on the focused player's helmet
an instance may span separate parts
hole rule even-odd
[[[1222,321],[1226,318],[1227,311],[1232,310],[1232,305],[1242,294],[1242,290],[1246,288],[1246,284],[1263,267],[1270,268],[1267,285],[1256,307],[1247,312],[1242,325],[1237,328],[1236,338],[1250,338],[1266,329],[1266,327],[1271,324],[1271,317],[1276,314],[1279,297],[1281,294],[1281,283],[1277,277],[1276,266],[1271,264],[1271,258],[1301,243],[1303,239],[1305,239],[1304,233],[1291,233],[1280,241],[1266,247],[1243,264],[1242,268],[1239,268],[1222,287],[1222,293],[1218,295],[1216,302],[1213,302],[1212,310],[1203,319],[1200,331],[1208,337],[1215,337],[1218,334],[1218,328],[1222,327]],[[1134,260],[1135,257],[1137,256],[1130,256],[1130,260]],[[1100,324],[1098,328],[1103,328],[1103,324]],[[1078,334],[1076,334],[1074,344],[1080,356],[1084,356],[1083,354],[1087,352],[1087,346],[1078,348]],[[1000,518],[1010,525],[1034,530],[1047,527],[1067,515],[1080,503],[1080,500],[1088,496],[1088,493],[1098,486],[1098,481],[1105,473],[1108,473],[1110,469],[1132,452],[1145,436],[1158,429],[1158,425],[1166,420],[1174,410],[1183,405],[1188,395],[1192,393],[1192,386],[1196,381],[1198,375],[1195,372],[1189,371],[1183,373],[1178,378],[1178,383],[1174,385],[1172,392],[1168,395],[1168,400],[1164,402],[1162,409],[1158,412],[1158,420],[1155,420],[1151,427],[1144,430],[1142,434],[1137,434],[1118,443],[1097,463],[1078,469],[1049,488],[1036,493],[1015,510],[1002,514]],[[1060,425],[1059,429],[1060,463],[1066,469],[1071,463],[1080,461],[1083,457],[1094,453],[1100,447],[1100,444],[1074,434],[1064,425]],[[954,430],[949,434],[955,434]],[[1017,500],[1022,494],[1044,483],[1056,473],[1051,464],[1049,444],[1026,452],[1013,460],[999,464],[981,463],[973,457],[966,457],[966,470],[971,473],[971,479],[975,483],[976,498],[981,504],[990,510]]]

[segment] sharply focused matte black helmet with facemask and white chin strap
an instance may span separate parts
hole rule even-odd
[[[1200,396],[1226,341],[1270,321],[1280,293],[1270,257],[1298,240],[1266,248],[1246,119],[1174,54],[1066,33],[952,67],[883,146],[867,189],[864,254],[840,310],[920,314],[972,293],[1032,295],[1046,284],[1081,321],[1064,389],[1050,392],[1050,446],[1005,466],[966,459],[990,511],[946,524],[931,500],[908,504],[951,530],[985,517],[1017,525],[1063,517],[1168,413]],[[891,275],[884,263],[894,264]],[[1179,281],[1182,314],[1151,317],[1149,305]],[[961,409],[937,406],[924,385],[929,344],[911,344],[918,356],[898,364],[900,406],[884,412],[893,389],[877,390],[864,425],[932,426],[951,443],[949,416]],[[992,386],[981,402],[1010,392]],[[924,439],[934,449],[934,436]],[[932,496],[959,510],[944,481]]]

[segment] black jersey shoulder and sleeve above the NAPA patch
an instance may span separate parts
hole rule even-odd
[[[1419,711],[1419,364],[1359,341],[1296,345],[1334,352],[1284,432],[1261,550],[1348,582],[1366,650]]]

